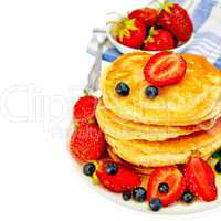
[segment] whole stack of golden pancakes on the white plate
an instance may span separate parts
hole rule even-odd
[[[102,76],[102,98],[96,118],[109,145],[110,156],[136,167],[185,164],[192,155],[209,158],[221,147],[221,72],[204,57],[182,54],[185,77],[145,95],[144,67],[150,55],[123,55]],[[130,93],[115,87],[126,83]]]

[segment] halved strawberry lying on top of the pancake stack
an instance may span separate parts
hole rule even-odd
[[[182,80],[187,63],[181,55],[173,52],[160,52],[147,62],[145,78],[155,86],[176,84]]]

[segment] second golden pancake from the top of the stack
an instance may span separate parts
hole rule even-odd
[[[144,139],[149,141],[162,141],[178,136],[189,135],[200,130],[209,130],[215,123],[207,120],[192,126],[157,126],[134,123],[117,117],[112,110],[104,106],[101,99],[96,108],[96,118],[101,129],[116,139],[133,140]]]

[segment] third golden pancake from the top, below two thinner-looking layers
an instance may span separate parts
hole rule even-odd
[[[221,119],[209,131],[198,131],[166,141],[118,140],[106,135],[114,152],[125,161],[144,167],[186,164],[197,154],[209,157],[221,146]]]

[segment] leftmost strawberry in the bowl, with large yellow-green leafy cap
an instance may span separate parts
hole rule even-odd
[[[112,34],[120,44],[134,49],[139,49],[141,46],[146,39],[146,27],[143,21],[124,18],[119,22],[114,23],[115,25],[112,29]]]

